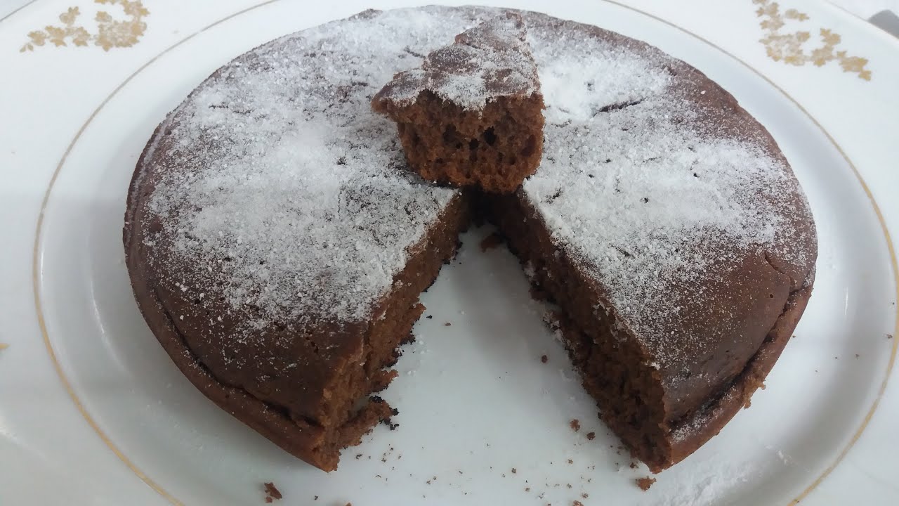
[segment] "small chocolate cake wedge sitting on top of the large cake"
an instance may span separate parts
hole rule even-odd
[[[458,34],[371,106],[396,122],[409,166],[428,181],[511,193],[537,170],[543,95],[519,14]]]

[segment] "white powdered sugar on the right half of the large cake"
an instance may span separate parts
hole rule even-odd
[[[529,30],[547,126],[539,170],[521,191],[604,287],[604,309],[662,368],[678,366],[681,347],[664,343],[687,312],[714,300],[703,293],[711,267],[753,250],[800,255],[781,230],[807,207],[787,203],[796,179],[760,142],[700,131],[690,90],[671,86],[680,62],[568,27]]]

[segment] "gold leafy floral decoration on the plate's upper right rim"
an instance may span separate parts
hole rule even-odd
[[[849,56],[846,51],[836,50],[841,41],[839,33],[822,28],[819,31],[822,45],[814,50],[806,50],[804,48],[806,41],[812,37],[810,32],[783,33],[781,29],[787,24],[786,20],[795,20],[799,23],[808,21],[808,14],[800,13],[796,9],[787,9],[781,13],[778,3],[770,0],[752,0],[752,3],[759,5],[755,14],[761,18],[759,24],[765,31],[765,37],[760,42],[765,45],[770,59],[797,67],[806,63],[823,67],[828,61],[838,61],[843,72],[855,73],[861,79],[871,80],[871,71],[865,68],[868,65],[867,58]]]

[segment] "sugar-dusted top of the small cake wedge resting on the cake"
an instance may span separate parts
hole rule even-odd
[[[539,87],[521,15],[506,12],[459,33],[455,43],[430,52],[420,68],[397,74],[375,100],[406,106],[428,90],[480,111],[500,96],[528,96]]]

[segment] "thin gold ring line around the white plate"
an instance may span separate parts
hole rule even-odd
[[[13,14],[16,14],[19,11],[21,11],[22,8],[33,4],[34,1],[35,0],[32,0],[28,4],[22,5],[22,7],[20,7],[19,9],[16,9],[12,13],[4,16],[4,18],[0,19],[0,21],[4,21],[5,19],[8,19]],[[156,62],[157,59],[160,59],[166,53],[170,52],[171,50],[174,50],[178,46],[182,45],[184,42],[190,41],[191,39],[193,39],[200,33],[206,32],[209,29],[217,26],[218,24],[225,23],[226,21],[233,19],[241,14],[246,14],[250,11],[254,11],[255,9],[257,9],[259,7],[263,7],[264,5],[270,5],[275,2],[279,2],[279,1],[280,0],[265,0],[264,2],[262,2],[260,4],[252,5],[243,10],[237,11],[236,13],[233,13],[233,14],[228,14],[226,17],[223,17],[223,18],[219,19],[218,21],[206,25],[205,27],[201,28],[199,31],[191,33],[187,37],[183,38],[181,41],[177,41],[174,44],[172,44],[171,46],[169,46],[168,48],[165,48],[165,50],[158,53],[155,57],[147,60],[147,63],[140,66],[140,68],[135,70],[134,73],[132,73],[129,77],[126,77],[125,80],[123,80],[119,86],[116,86],[116,88],[114,90],[112,90],[111,94],[108,95],[105,99],[103,99],[103,101],[100,103],[100,105],[98,105],[97,108],[94,109],[93,113],[91,113],[91,115],[88,116],[88,118],[84,122],[84,124],[81,125],[81,128],[78,129],[75,137],[69,142],[68,147],[67,147],[66,151],[63,153],[62,158],[59,159],[57,167],[53,171],[53,176],[50,177],[50,181],[49,181],[49,185],[47,186],[47,190],[44,192],[43,200],[40,203],[40,213],[38,215],[37,227],[34,232],[34,247],[33,247],[33,251],[32,251],[32,271],[31,271],[31,282],[32,282],[32,288],[34,290],[34,305],[35,305],[35,309],[37,310],[38,326],[40,328],[41,337],[44,341],[44,346],[47,348],[49,358],[53,363],[54,369],[56,369],[56,372],[59,375],[59,379],[62,382],[63,387],[65,388],[69,397],[71,397],[72,402],[75,403],[77,410],[81,413],[81,415],[87,421],[88,425],[90,425],[91,429],[93,429],[93,431],[97,433],[97,435],[102,439],[103,443],[105,443],[107,447],[110,447],[110,449],[112,450],[112,453],[114,453],[115,456],[118,456],[119,459],[121,460],[121,462],[123,464],[127,465],[129,467],[129,469],[134,474],[136,474],[138,476],[138,478],[140,478],[144,483],[147,483],[147,485],[150,488],[152,488],[154,491],[159,493],[166,501],[169,501],[170,503],[177,505],[177,506],[183,506],[183,502],[178,501],[178,499],[176,499],[174,497],[174,495],[172,495],[172,493],[167,492],[159,483],[156,483],[156,481],[154,481],[146,473],[144,473],[142,470],[140,470],[140,468],[138,468],[138,466],[135,465],[128,456],[126,456],[124,453],[122,453],[120,448],[117,447],[114,442],[112,442],[111,438],[109,438],[109,436],[107,436],[106,433],[103,432],[103,430],[97,424],[96,420],[93,419],[93,416],[91,416],[91,414],[86,410],[84,403],[81,402],[81,399],[78,397],[77,393],[75,392],[75,389],[72,387],[71,382],[68,380],[67,375],[63,371],[62,366],[59,364],[59,361],[57,359],[56,350],[53,348],[53,345],[49,339],[49,334],[47,332],[47,324],[46,324],[46,321],[44,321],[43,303],[41,303],[41,300],[40,300],[40,238],[41,238],[41,232],[43,230],[44,215],[45,215],[45,211],[47,209],[47,204],[49,203],[49,197],[50,197],[50,194],[52,193],[53,186],[56,184],[57,178],[59,176],[59,172],[62,170],[62,167],[65,165],[68,155],[71,153],[72,149],[75,147],[76,143],[81,138],[81,135],[85,132],[88,125],[90,125],[90,123],[93,122],[93,119],[97,116],[98,113],[100,113],[102,108],[111,101],[113,96],[118,94],[121,91],[121,89],[124,86],[128,85],[129,82],[134,77],[137,77],[139,73],[144,71],[147,67],[152,65],[154,62]],[[708,44],[709,46],[715,48],[716,50],[721,51],[722,53],[724,53],[731,59],[734,59],[735,61],[737,61],[738,63],[743,65],[743,67],[748,68],[754,74],[756,74],[757,76],[764,79],[766,82],[768,82],[768,84],[770,84],[770,86],[774,86],[774,88],[776,88],[781,94],[786,96],[790,102],[795,104],[797,106],[797,108],[806,115],[806,117],[808,117],[812,122],[814,122],[814,125],[820,131],[823,132],[823,134],[827,137],[827,140],[829,140],[832,143],[833,147],[836,148],[837,151],[839,151],[842,158],[845,159],[846,163],[849,164],[849,166],[852,168],[852,173],[859,180],[859,183],[861,184],[862,188],[864,188],[865,194],[868,195],[868,201],[871,203],[871,206],[874,208],[874,212],[877,214],[877,221],[879,221],[880,228],[881,228],[881,230],[883,230],[884,238],[886,239],[886,247],[889,251],[890,264],[893,269],[894,283],[896,286],[896,298],[897,298],[897,300],[899,300],[899,266],[897,266],[895,248],[893,247],[893,241],[890,238],[889,230],[887,230],[887,228],[886,228],[886,221],[884,220],[883,213],[880,211],[880,208],[877,206],[877,202],[874,199],[874,195],[871,194],[871,191],[868,188],[868,185],[865,183],[865,180],[862,178],[861,174],[859,174],[859,170],[855,167],[855,165],[852,163],[852,161],[846,155],[845,151],[843,151],[843,149],[840,147],[840,145],[837,144],[836,140],[833,139],[831,134],[828,131],[824,130],[821,123],[818,122],[817,120],[815,120],[814,117],[810,113],[808,113],[808,111],[806,111],[806,108],[803,107],[801,104],[799,104],[796,101],[796,99],[794,99],[792,96],[788,95],[788,93],[783,88],[781,88],[780,86],[775,84],[773,81],[770,80],[770,78],[764,76],[763,74],[761,74],[761,72],[759,72],[755,68],[750,67],[749,64],[747,64],[742,59],[739,59],[736,56],[734,56],[734,54],[732,54],[731,52],[724,50],[723,48],[718,47],[716,44],[712,43],[711,41],[708,41],[707,39],[700,37],[699,35],[697,35],[695,33],[689,32],[689,31],[681,28],[680,26],[678,26],[674,23],[668,22],[668,21],[664,20],[663,18],[660,18],[654,14],[646,13],[644,11],[641,11],[639,9],[631,7],[629,5],[622,5],[615,0],[603,0],[603,1],[606,3],[612,4],[612,5],[617,5],[619,7],[628,9],[629,11],[636,12],[637,14],[645,15],[646,17],[649,17],[649,18],[659,21],[661,23],[667,24],[668,26],[671,26],[672,28],[675,28],[680,32],[687,33],[688,35],[698,39],[699,41],[702,41],[702,42]],[[896,326],[895,326],[894,335],[897,336],[897,338],[899,338],[899,312],[897,312],[896,317],[897,318],[896,318]],[[797,497],[795,499],[790,501],[788,503],[788,506],[793,506],[793,505],[797,504],[799,501],[802,501],[803,499],[805,499],[808,496],[808,494],[810,492],[812,492],[814,490],[815,487],[817,487],[819,484],[821,484],[823,482],[824,478],[826,478],[829,474],[831,474],[832,471],[837,467],[837,465],[840,465],[842,459],[849,453],[851,447],[853,447],[855,445],[855,443],[859,440],[859,438],[861,437],[861,435],[865,431],[865,429],[868,428],[868,423],[870,422],[871,417],[874,415],[874,412],[877,411],[877,406],[879,405],[880,400],[883,397],[884,392],[886,391],[886,384],[889,382],[890,374],[892,373],[893,367],[895,365],[897,349],[899,349],[899,339],[894,339],[893,348],[890,351],[890,358],[889,358],[889,362],[886,367],[886,375],[884,376],[884,379],[880,384],[880,388],[877,391],[877,397],[875,398],[874,402],[871,404],[871,407],[868,409],[868,412],[866,413],[864,420],[862,420],[861,424],[859,425],[859,428],[855,430],[849,443],[847,443],[846,446],[842,448],[840,454],[836,457],[836,459],[834,459],[832,464],[828,465],[824,469],[824,471],[820,475],[818,475],[817,478],[814,479],[814,482],[812,482],[810,485],[808,485],[803,492],[799,493],[799,495],[797,495]]]

